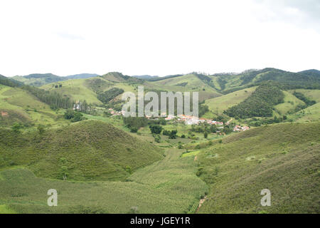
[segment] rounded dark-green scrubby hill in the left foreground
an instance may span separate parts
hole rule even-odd
[[[25,165],[41,177],[62,179],[67,167],[68,180],[124,180],[127,166],[137,170],[162,158],[149,142],[95,120],[42,135],[6,129],[0,135],[0,166]]]

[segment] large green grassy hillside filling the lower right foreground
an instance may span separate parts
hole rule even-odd
[[[230,135],[198,154],[210,184],[201,213],[312,213],[319,207],[320,123],[280,123]],[[269,189],[272,206],[262,207]]]

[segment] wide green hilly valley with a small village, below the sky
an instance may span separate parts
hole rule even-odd
[[[199,117],[124,118],[138,86]],[[319,213],[319,102],[316,70],[0,76],[0,213]]]

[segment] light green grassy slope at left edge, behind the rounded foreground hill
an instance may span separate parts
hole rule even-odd
[[[0,85],[0,125],[11,126],[14,122],[42,125],[63,125],[61,112],[54,112],[34,95],[20,88]]]

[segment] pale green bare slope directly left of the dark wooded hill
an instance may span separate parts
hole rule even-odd
[[[233,93],[228,93],[227,95],[223,95],[218,98],[206,100],[206,105],[208,105],[209,110],[213,111],[213,113],[217,113],[218,109],[218,114],[221,114],[224,110],[237,105],[249,97],[255,91],[255,88],[257,87],[245,88]]]

